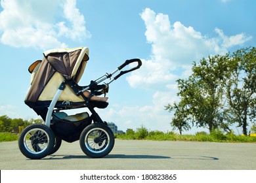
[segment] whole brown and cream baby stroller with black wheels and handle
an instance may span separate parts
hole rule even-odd
[[[53,49],[43,53],[43,60],[32,63],[31,87],[25,99],[26,105],[41,116],[44,124],[31,124],[18,139],[20,152],[30,159],[41,159],[56,152],[63,141],[79,140],[81,150],[91,158],[102,158],[114,147],[114,133],[95,111],[106,108],[105,101],[90,100],[93,95],[106,95],[108,86],[119,76],[139,69],[140,59],[129,59],[112,73],[92,80],[88,86],[79,86],[81,76],[89,60],[89,48]],[[121,71],[130,63],[137,66]],[[114,76],[118,71],[119,74]],[[100,84],[106,79],[108,83]],[[90,91],[89,97],[83,92]],[[88,112],[68,115],[65,110],[88,108]]]

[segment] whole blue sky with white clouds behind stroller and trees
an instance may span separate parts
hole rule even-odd
[[[255,8],[254,0],[1,0],[0,116],[39,118],[24,104],[29,65],[51,48],[87,46],[80,85],[126,59],[142,60],[139,70],[110,85],[102,119],[123,131],[171,131],[164,106],[179,101],[175,81],[191,74],[193,61],[256,46]],[[186,133],[196,131],[202,129]]]

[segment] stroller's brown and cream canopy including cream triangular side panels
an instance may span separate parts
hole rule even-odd
[[[79,82],[89,60],[89,48],[53,49],[44,52],[43,56],[42,61],[35,61],[28,69],[32,79],[25,103],[32,108],[37,101],[51,101],[64,80]],[[75,102],[82,99],[66,87],[60,100]]]

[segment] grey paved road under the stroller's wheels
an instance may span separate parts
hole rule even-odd
[[[62,142],[55,154],[31,160],[20,153],[18,142],[0,142],[1,170],[255,170],[256,144],[122,141],[108,156],[85,156],[79,141]]]

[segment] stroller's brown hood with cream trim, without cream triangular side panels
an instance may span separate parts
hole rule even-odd
[[[30,90],[25,99],[25,103],[31,105],[38,101],[41,93],[55,74],[60,77],[58,80],[74,79],[75,82],[79,82],[89,60],[89,48],[53,49],[44,52],[43,55],[44,58],[41,62],[33,63],[29,68],[30,73],[36,70],[33,73]]]

